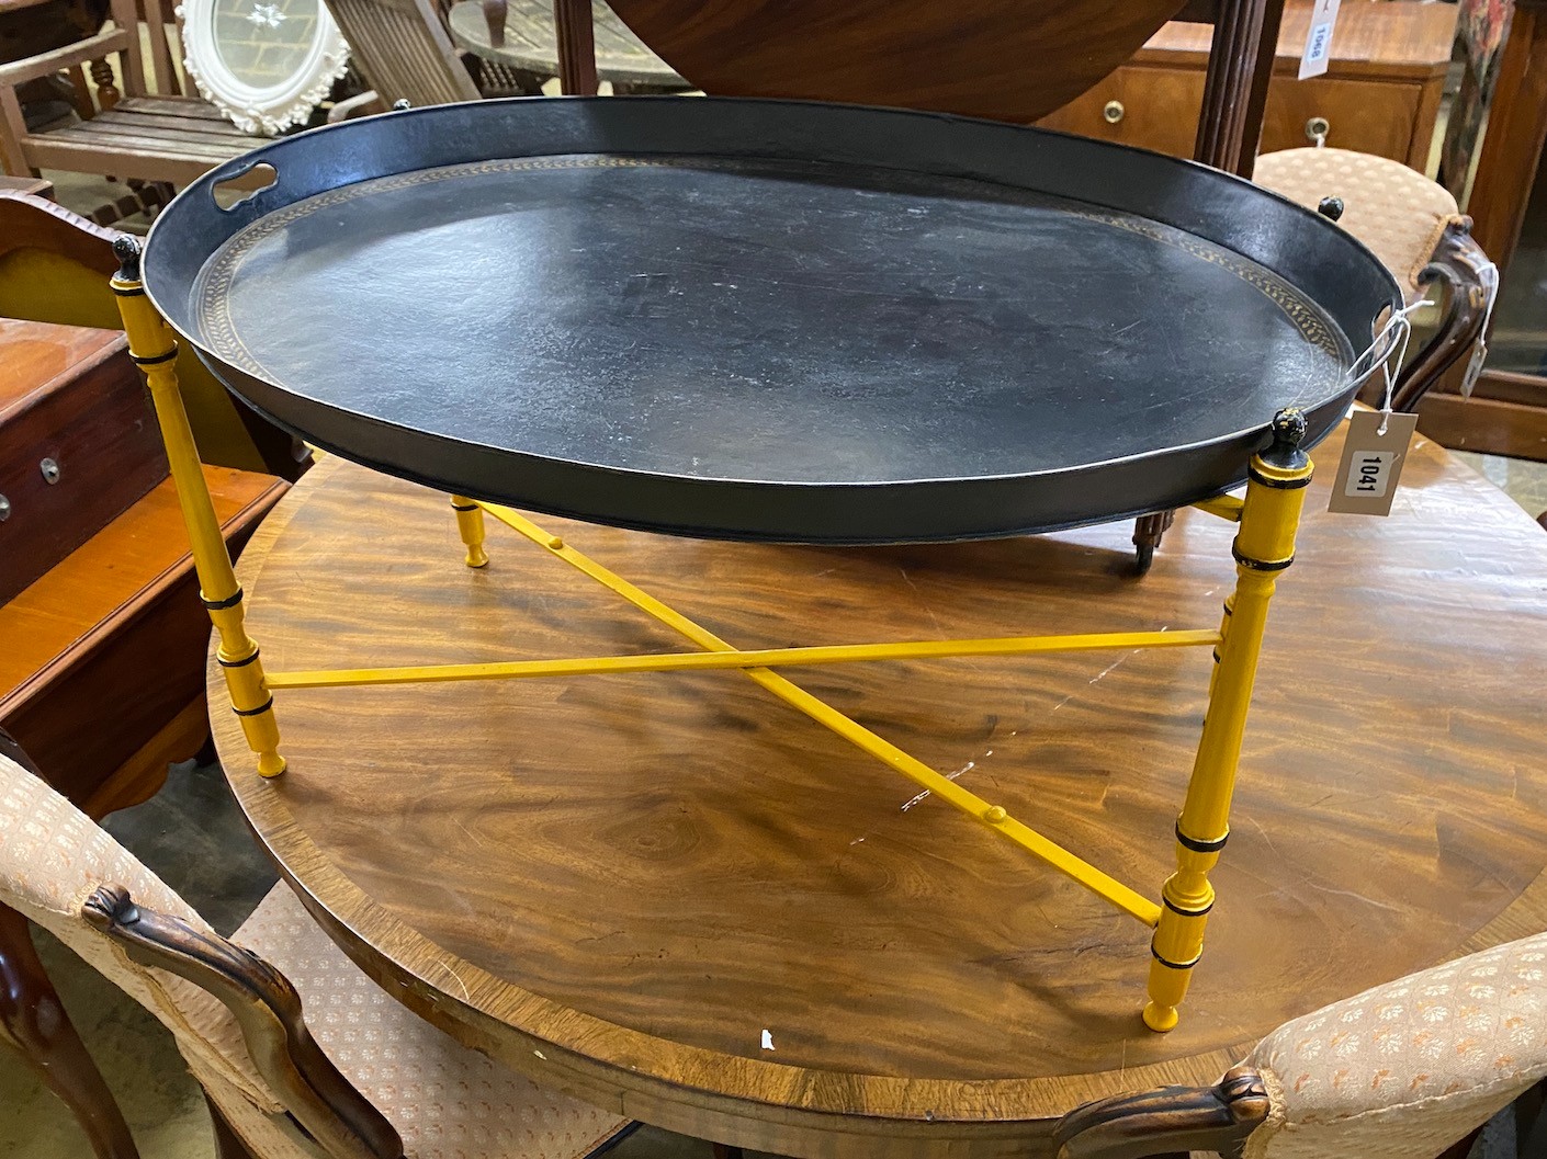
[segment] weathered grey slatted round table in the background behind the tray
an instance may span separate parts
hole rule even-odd
[[[610,80],[614,93],[684,93],[693,85],[651,53],[603,0],[593,3],[596,74]],[[484,60],[514,68],[541,93],[543,82],[558,76],[558,34],[552,0],[509,0],[504,43],[492,43],[489,22],[478,0],[461,0],[447,20],[458,48]]]

